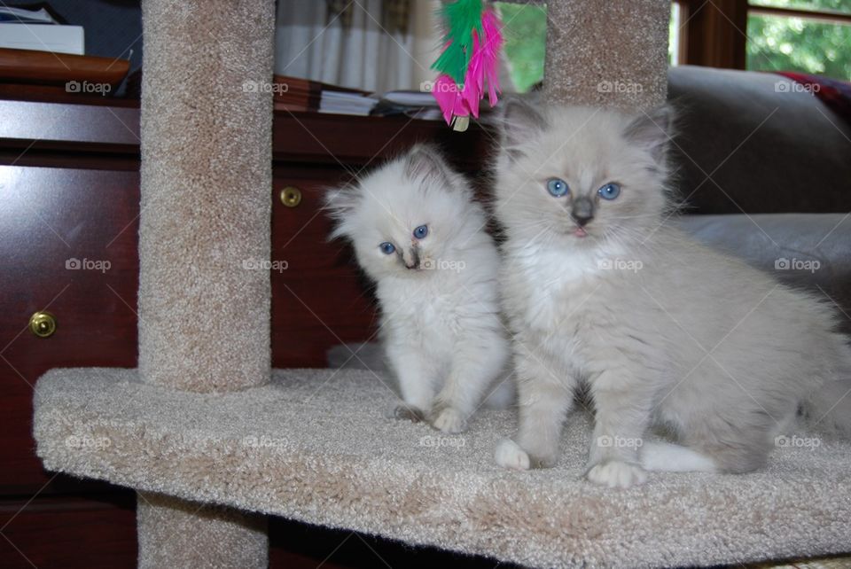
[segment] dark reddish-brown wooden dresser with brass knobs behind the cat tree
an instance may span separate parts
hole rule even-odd
[[[137,365],[138,131],[132,101],[0,100],[0,566],[136,562],[135,495],[44,472],[31,426],[44,371]],[[276,115],[272,260],[286,269],[271,273],[275,367],[322,367],[328,347],[371,336],[373,302],[347,247],[326,241],[322,192],[419,140],[440,142],[468,170],[489,144],[476,129],[403,117]],[[285,520],[271,520],[270,540],[272,566],[451,557]]]

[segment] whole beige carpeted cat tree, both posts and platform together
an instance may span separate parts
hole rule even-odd
[[[668,0],[550,2],[550,100],[664,100]],[[46,468],[138,491],[139,565],[263,567],[264,515],[537,566],[658,566],[845,552],[851,447],[775,453],[748,476],[504,472],[512,411],[447,436],[383,417],[388,378],[269,370],[274,2],[144,0],[139,368],[51,370],[35,392]],[[613,41],[616,38],[617,41]],[[597,47],[595,47],[597,46]],[[640,92],[600,90],[636,82]],[[828,449],[829,452],[824,452]]]

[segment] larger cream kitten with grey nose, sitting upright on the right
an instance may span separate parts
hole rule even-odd
[[[664,108],[507,105],[496,214],[520,417],[498,464],[555,464],[580,384],[585,476],[610,487],[752,471],[800,407],[851,427],[851,350],[826,303],[665,224],[668,123]],[[680,444],[642,445],[652,425]]]

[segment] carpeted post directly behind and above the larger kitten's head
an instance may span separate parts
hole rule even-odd
[[[668,93],[668,0],[547,3],[550,103],[646,111]]]

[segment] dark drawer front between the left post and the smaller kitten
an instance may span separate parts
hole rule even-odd
[[[329,347],[369,339],[377,310],[371,286],[332,226],[323,195],[346,177],[328,169],[275,171],[272,195],[272,357],[275,367],[322,367]],[[295,188],[301,201],[282,203]],[[277,267],[277,269],[276,269]]]

